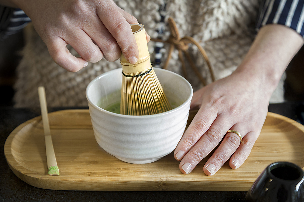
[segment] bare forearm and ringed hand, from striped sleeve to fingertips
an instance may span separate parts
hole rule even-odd
[[[215,174],[230,157],[233,169],[244,163],[261,132],[271,94],[303,42],[291,28],[265,25],[235,72],[194,93],[191,108],[200,109],[174,151],[182,173],[190,173],[222,139],[204,173]],[[240,132],[241,143],[237,134],[224,137],[230,129]]]

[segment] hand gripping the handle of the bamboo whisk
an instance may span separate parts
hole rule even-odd
[[[138,48],[129,24],[138,22],[112,0],[14,1],[31,18],[53,60],[68,71],[78,71],[87,61],[103,57],[116,61],[121,52],[131,64],[137,61]],[[71,55],[68,44],[81,58]]]

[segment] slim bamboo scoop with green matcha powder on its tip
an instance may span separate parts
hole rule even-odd
[[[56,162],[52,136],[50,132],[49,117],[47,115],[47,101],[45,97],[45,89],[43,86],[38,87],[38,95],[44,131],[45,150],[47,154],[47,173],[48,175],[59,175],[59,169]]]

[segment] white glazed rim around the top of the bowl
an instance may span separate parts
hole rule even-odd
[[[105,73],[99,75],[98,77],[94,78],[94,79],[88,84],[88,86],[87,86],[87,88],[86,88],[86,90],[85,90],[85,96],[86,96],[88,102],[89,102],[94,108],[96,108],[96,109],[99,110],[99,111],[103,111],[103,112],[105,112],[105,113],[112,114],[112,115],[115,115],[115,116],[118,116],[118,117],[129,117],[129,118],[143,118],[143,117],[145,117],[145,118],[150,118],[150,117],[151,117],[151,118],[152,118],[152,117],[161,116],[161,115],[163,115],[163,114],[172,113],[172,112],[178,110],[179,108],[182,108],[184,105],[186,105],[188,102],[190,102],[190,101],[192,100],[193,89],[192,89],[192,86],[191,86],[191,84],[189,83],[189,81],[187,81],[187,79],[185,79],[184,77],[182,77],[182,76],[179,75],[179,74],[176,74],[176,73],[174,73],[174,72],[172,72],[172,71],[169,71],[169,70],[166,70],[166,69],[153,68],[154,70],[157,69],[157,71],[167,71],[167,72],[170,72],[171,74],[174,74],[174,75],[180,77],[182,80],[184,80],[184,81],[186,82],[186,84],[188,84],[188,85],[190,86],[190,89],[191,89],[190,96],[188,97],[188,99],[187,99],[185,102],[183,102],[183,104],[181,104],[181,105],[179,105],[178,107],[176,107],[176,108],[174,108],[174,109],[171,109],[171,110],[169,110],[169,111],[165,111],[165,112],[158,113],[158,114],[151,114],[151,115],[140,115],[140,116],[137,116],[137,115],[125,115],[125,114],[117,114],[117,113],[114,113],[114,112],[111,112],[111,111],[107,111],[107,110],[105,110],[105,109],[103,109],[103,108],[98,107],[95,103],[93,103],[93,102],[88,98],[88,89],[89,89],[90,86],[91,86],[96,80],[98,80],[100,77],[103,77],[103,76],[109,74],[111,71],[118,71],[118,69],[120,69],[120,71],[123,70],[123,68],[113,69],[113,70],[107,71],[107,72],[105,72]]]

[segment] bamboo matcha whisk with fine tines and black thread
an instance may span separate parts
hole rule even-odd
[[[136,64],[130,64],[123,55],[120,57],[123,68],[120,114],[150,115],[168,111],[171,106],[152,68],[144,26],[131,24],[131,28],[139,58]]]

